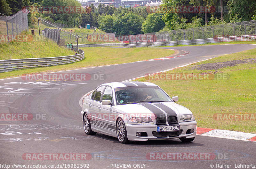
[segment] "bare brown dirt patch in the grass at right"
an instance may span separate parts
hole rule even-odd
[[[256,58],[250,58],[250,59],[244,59],[244,60],[233,60],[233,61],[227,61],[227,62],[216,62],[216,63],[206,63],[206,64],[200,64],[198,66],[193,66],[190,68],[191,70],[218,70],[223,67],[227,66],[236,66],[237,64],[242,63],[256,63]]]

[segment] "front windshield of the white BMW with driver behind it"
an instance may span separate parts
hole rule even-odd
[[[115,89],[117,104],[172,102],[158,86],[132,86]]]

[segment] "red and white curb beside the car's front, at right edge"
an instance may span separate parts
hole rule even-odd
[[[197,127],[196,135],[256,142],[256,134],[243,133],[243,132],[238,132],[238,131],[207,129],[207,128]]]

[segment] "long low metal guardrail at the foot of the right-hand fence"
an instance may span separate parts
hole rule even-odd
[[[124,44],[124,48],[136,48],[136,47],[157,47],[157,46],[176,46],[176,45],[196,45],[203,43],[218,43],[229,41],[256,41],[256,35],[242,35],[242,36],[227,36],[216,37],[208,39],[196,39],[196,40],[179,40],[169,42],[154,42],[154,43],[139,43],[139,44]]]

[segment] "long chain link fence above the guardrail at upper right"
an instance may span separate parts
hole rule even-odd
[[[129,41],[129,44],[138,44],[253,34],[256,34],[256,20],[139,35],[116,36],[116,38],[121,41]]]

